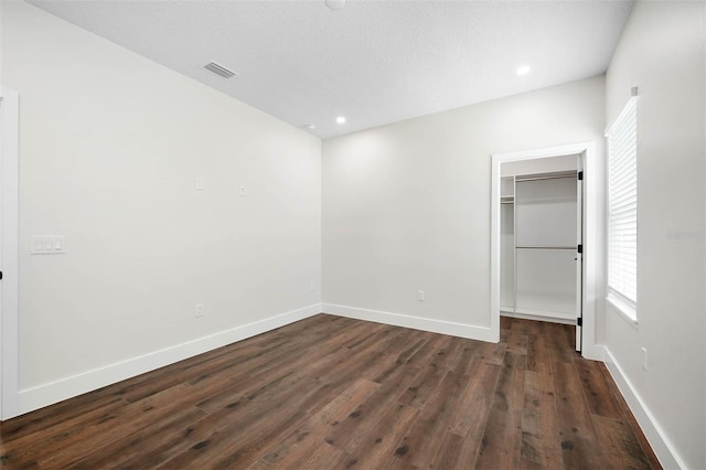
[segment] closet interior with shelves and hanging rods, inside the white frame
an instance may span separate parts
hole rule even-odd
[[[501,164],[501,316],[576,325],[581,350],[580,156]]]

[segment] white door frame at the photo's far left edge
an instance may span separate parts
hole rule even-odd
[[[17,92],[0,88],[0,419],[20,414],[19,403],[19,120]]]

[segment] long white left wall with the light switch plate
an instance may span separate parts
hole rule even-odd
[[[2,2],[2,40],[21,113],[20,387],[44,391],[23,408],[319,311],[318,138],[23,2]],[[67,253],[30,255],[31,235]]]

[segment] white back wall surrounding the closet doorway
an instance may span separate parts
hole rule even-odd
[[[491,154],[595,140],[602,159],[603,103],[595,77],[325,140],[324,309],[485,338]]]

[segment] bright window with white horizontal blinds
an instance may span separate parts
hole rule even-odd
[[[637,97],[608,130],[608,300],[637,323]]]

